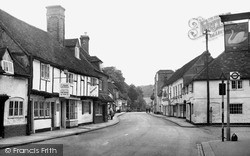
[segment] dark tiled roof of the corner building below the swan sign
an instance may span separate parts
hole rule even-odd
[[[238,71],[241,79],[249,79],[250,52],[223,52],[209,64],[208,69],[211,80],[220,80],[222,72],[229,76],[233,71]],[[206,80],[206,69],[202,70],[194,80]]]

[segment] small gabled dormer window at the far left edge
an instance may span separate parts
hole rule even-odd
[[[1,67],[2,69],[5,71],[5,73],[7,74],[14,74],[14,65],[13,65],[13,60],[10,56],[10,54],[8,53],[8,50],[6,49],[5,51],[3,51],[3,55],[2,58],[0,58],[1,60]]]

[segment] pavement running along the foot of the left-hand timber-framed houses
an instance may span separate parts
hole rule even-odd
[[[82,133],[87,133],[90,131],[106,128],[109,126],[116,125],[120,122],[119,116],[123,115],[125,112],[116,113],[113,117],[113,120],[108,120],[108,122],[99,123],[99,124],[88,124],[84,126],[78,126],[75,128],[70,129],[61,129],[61,130],[55,130],[55,131],[48,131],[48,132],[41,132],[41,133],[35,133],[31,135],[26,136],[16,136],[16,137],[10,137],[10,138],[4,138],[0,139],[0,149],[4,149],[7,147],[14,147],[14,146],[20,146],[20,145],[26,145],[30,143],[36,143],[40,141],[55,139],[55,138],[61,138],[71,135],[78,135]]]

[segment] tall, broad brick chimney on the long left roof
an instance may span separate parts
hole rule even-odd
[[[63,46],[65,38],[65,9],[60,5],[48,6],[47,32]]]

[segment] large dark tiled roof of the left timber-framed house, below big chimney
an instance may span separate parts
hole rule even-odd
[[[34,58],[60,68],[66,68],[71,72],[98,77],[90,62],[75,58],[70,49],[61,46],[49,33],[31,26],[1,9],[0,26]]]

